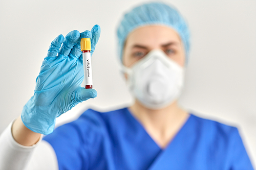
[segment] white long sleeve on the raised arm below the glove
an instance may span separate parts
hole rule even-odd
[[[42,136],[39,141],[26,147],[12,136],[12,123],[0,136],[0,170],[58,170],[58,161],[52,146]]]

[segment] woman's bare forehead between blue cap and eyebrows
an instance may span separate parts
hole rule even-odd
[[[177,41],[181,43],[178,33],[166,26],[144,26],[132,31],[126,39],[126,45],[135,43],[143,45],[159,45],[169,41]]]

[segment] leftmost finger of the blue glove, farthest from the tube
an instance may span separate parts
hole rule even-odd
[[[56,57],[58,52],[59,52],[59,48],[62,44],[64,40],[63,35],[58,35],[52,42],[51,45],[49,47],[48,53],[46,57]]]

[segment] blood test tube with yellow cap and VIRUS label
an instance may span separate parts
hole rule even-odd
[[[90,38],[81,38],[81,51],[83,60],[84,87],[93,88]]]

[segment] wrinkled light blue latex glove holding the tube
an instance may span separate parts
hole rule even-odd
[[[93,54],[99,36],[100,27],[95,25],[91,32],[80,34],[75,30],[65,38],[59,35],[52,41],[36,78],[34,95],[22,111],[22,121],[27,128],[45,135],[52,133],[56,117],[97,96],[96,90],[81,87],[83,62],[80,39],[91,38]]]

